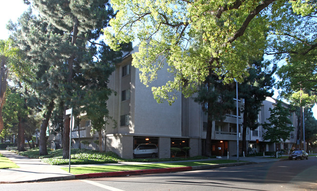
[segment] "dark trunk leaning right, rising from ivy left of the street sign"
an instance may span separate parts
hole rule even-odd
[[[42,119],[42,124],[40,127],[40,142],[39,142],[39,148],[40,148],[40,156],[47,155],[47,138],[46,138],[46,130],[48,126],[48,122],[50,121],[52,111],[54,108],[54,100],[51,100],[49,105],[46,108],[46,113],[44,115],[44,118]]]

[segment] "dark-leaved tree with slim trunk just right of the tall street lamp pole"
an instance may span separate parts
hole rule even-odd
[[[262,102],[266,97],[273,96],[272,87],[274,83],[273,74],[277,66],[274,65],[272,70],[269,68],[270,63],[263,63],[262,60],[255,61],[252,67],[248,69],[249,76],[242,84],[238,85],[238,97],[244,99],[242,122],[242,152],[247,153],[246,131],[247,128],[255,130],[258,128],[258,112]]]

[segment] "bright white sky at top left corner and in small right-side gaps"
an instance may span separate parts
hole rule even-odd
[[[28,8],[23,3],[23,0],[0,0],[0,39],[7,39],[9,33],[6,29],[6,24],[11,19],[16,22],[20,15]],[[274,98],[277,98],[275,91]],[[313,107],[314,116],[317,119],[317,106]]]

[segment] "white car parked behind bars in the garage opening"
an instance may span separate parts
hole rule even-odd
[[[157,158],[158,147],[155,144],[140,144],[133,150],[134,158]]]

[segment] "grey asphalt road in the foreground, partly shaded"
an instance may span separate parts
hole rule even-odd
[[[310,191],[317,190],[317,157],[213,170],[2,184],[0,191]]]

